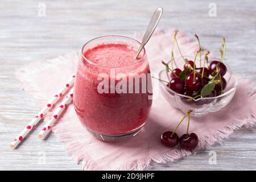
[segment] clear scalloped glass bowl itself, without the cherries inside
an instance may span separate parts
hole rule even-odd
[[[194,60],[193,57],[184,56],[188,60]],[[209,63],[213,60],[217,59],[211,59],[209,60]],[[170,61],[168,64],[171,67]],[[177,68],[180,68],[183,70],[184,61],[182,59],[176,60]],[[199,60],[196,60],[196,64],[199,64]],[[203,65],[203,63],[202,63]],[[205,65],[207,65],[205,63]],[[218,110],[221,110],[223,107],[229,104],[229,102],[232,100],[234,94],[236,93],[237,88],[237,80],[232,75],[231,69],[229,65],[225,64],[227,71],[224,75],[224,78],[227,82],[226,88],[224,89],[224,94],[221,94],[220,96],[216,97],[204,97],[204,98],[197,98],[193,99],[192,101],[188,101],[188,99],[192,98],[189,96],[185,96],[183,94],[179,94],[168,88],[166,82],[159,81],[160,90],[166,99],[166,101],[173,107],[180,109],[184,113],[186,113],[188,110],[192,110],[191,115],[195,117],[203,116],[207,113],[215,112]],[[205,66],[207,67],[207,66]],[[176,68],[176,67],[175,67]],[[164,81],[170,81],[171,80],[171,72],[166,72],[166,69],[159,72],[159,79]]]

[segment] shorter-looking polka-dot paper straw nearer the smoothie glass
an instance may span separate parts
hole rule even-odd
[[[46,125],[44,125],[43,129],[40,131],[38,137],[40,139],[44,139],[47,134],[49,133],[49,131],[51,130],[54,122],[57,120],[57,118],[59,118],[59,116],[61,115],[61,113],[63,113],[65,107],[67,106],[67,104],[72,101],[73,98],[73,90],[74,88],[72,88],[68,95],[65,97],[65,99],[61,102],[61,104],[59,105],[59,107],[57,107],[56,111],[52,114],[52,117],[49,119],[49,121],[46,123]]]

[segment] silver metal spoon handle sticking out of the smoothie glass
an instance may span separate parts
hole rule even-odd
[[[137,54],[135,56],[135,59],[138,58],[139,53],[141,53],[143,47],[147,44],[148,40],[151,38],[151,35],[153,34],[153,32],[155,31],[156,26],[158,25],[158,22],[161,18],[163,14],[163,8],[162,7],[158,7],[154,14],[152,15],[151,19],[150,19],[150,23],[148,23],[147,29],[144,32],[143,38],[142,38],[142,42],[141,42],[141,46],[139,47]]]

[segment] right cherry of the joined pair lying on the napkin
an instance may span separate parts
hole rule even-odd
[[[193,150],[199,143],[199,139],[195,133],[184,134],[179,139],[180,147],[185,150]]]

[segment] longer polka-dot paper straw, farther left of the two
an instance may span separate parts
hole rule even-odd
[[[56,95],[49,100],[46,106],[28,123],[28,125],[20,132],[20,134],[10,143],[11,148],[16,148],[18,144],[27,136],[28,133],[36,126],[36,124],[47,114],[47,112],[53,107],[53,105],[60,100],[60,98],[72,87],[75,80],[75,75],[72,76],[68,82],[56,93]]]

